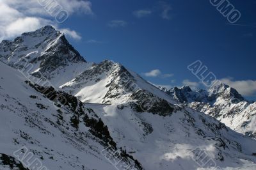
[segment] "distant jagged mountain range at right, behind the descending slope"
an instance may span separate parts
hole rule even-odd
[[[192,91],[189,87],[183,87],[165,92],[173,99],[211,115],[237,132],[256,137],[256,102],[246,101],[236,89],[226,84],[218,84],[208,91]]]

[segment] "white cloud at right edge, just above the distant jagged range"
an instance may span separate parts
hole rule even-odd
[[[232,81],[232,78],[220,79],[221,82],[236,89],[241,95],[250,97],[256,93],[256,81]]]

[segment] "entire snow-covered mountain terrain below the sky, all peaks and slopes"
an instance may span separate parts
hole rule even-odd
[[[255,103],[224,84],[163,91],[51,26],[1,42],[0,61],[1,170],[32,169],[22,147],[47,169],[256,169]]]

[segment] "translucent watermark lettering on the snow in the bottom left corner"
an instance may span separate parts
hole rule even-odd
[[[23,146],[17,151],[13,152],[13,156],[19,160],[22,165],[29,170],[49,170],[42,164],[42,161],[29,151],[26,146]]]

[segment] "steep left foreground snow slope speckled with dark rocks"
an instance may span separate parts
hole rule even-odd
[[[67,101],[57,107],[61,101],[51,100],[53,93],[39,93],[42,88],[1,62],[0,79],[1,170],[20,166],[13,152],[24,146],[47,169],[113,169],[101,151],[115,142],[92,109],[64,92]],[[134,160],[121,158],[134,167]]]

